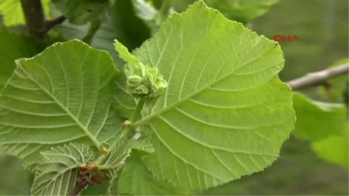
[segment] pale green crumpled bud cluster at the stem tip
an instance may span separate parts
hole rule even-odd
[[[167,87],[167,82],[156,68],[145,66],[141,62],[126,66],[125,74],[127,90],[135,98],[157,99]]]

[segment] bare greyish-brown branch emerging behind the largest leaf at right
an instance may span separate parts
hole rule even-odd
[[[291,86],[292,90],[300,90],[311,86],[324,85],[329,78],[347,73],[349,73],[349,63],[309,73],[287,83]]]

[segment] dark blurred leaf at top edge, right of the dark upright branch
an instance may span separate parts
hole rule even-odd
[[[101,13],[109,6],[108,0],[52,0],[52,3],[72,24],[99,20]]]

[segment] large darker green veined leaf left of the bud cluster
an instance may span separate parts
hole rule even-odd
[[[0,96],[0,144],[7,153],[35,163],[53,145],[98,148],[122,127],[110,108],[116,70],[107,52],[72,40],[16,64]]]

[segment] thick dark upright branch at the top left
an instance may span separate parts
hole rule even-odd
[[[21,5],[29,33],[43,37],[45,14],[41,0],[21,0]]]

